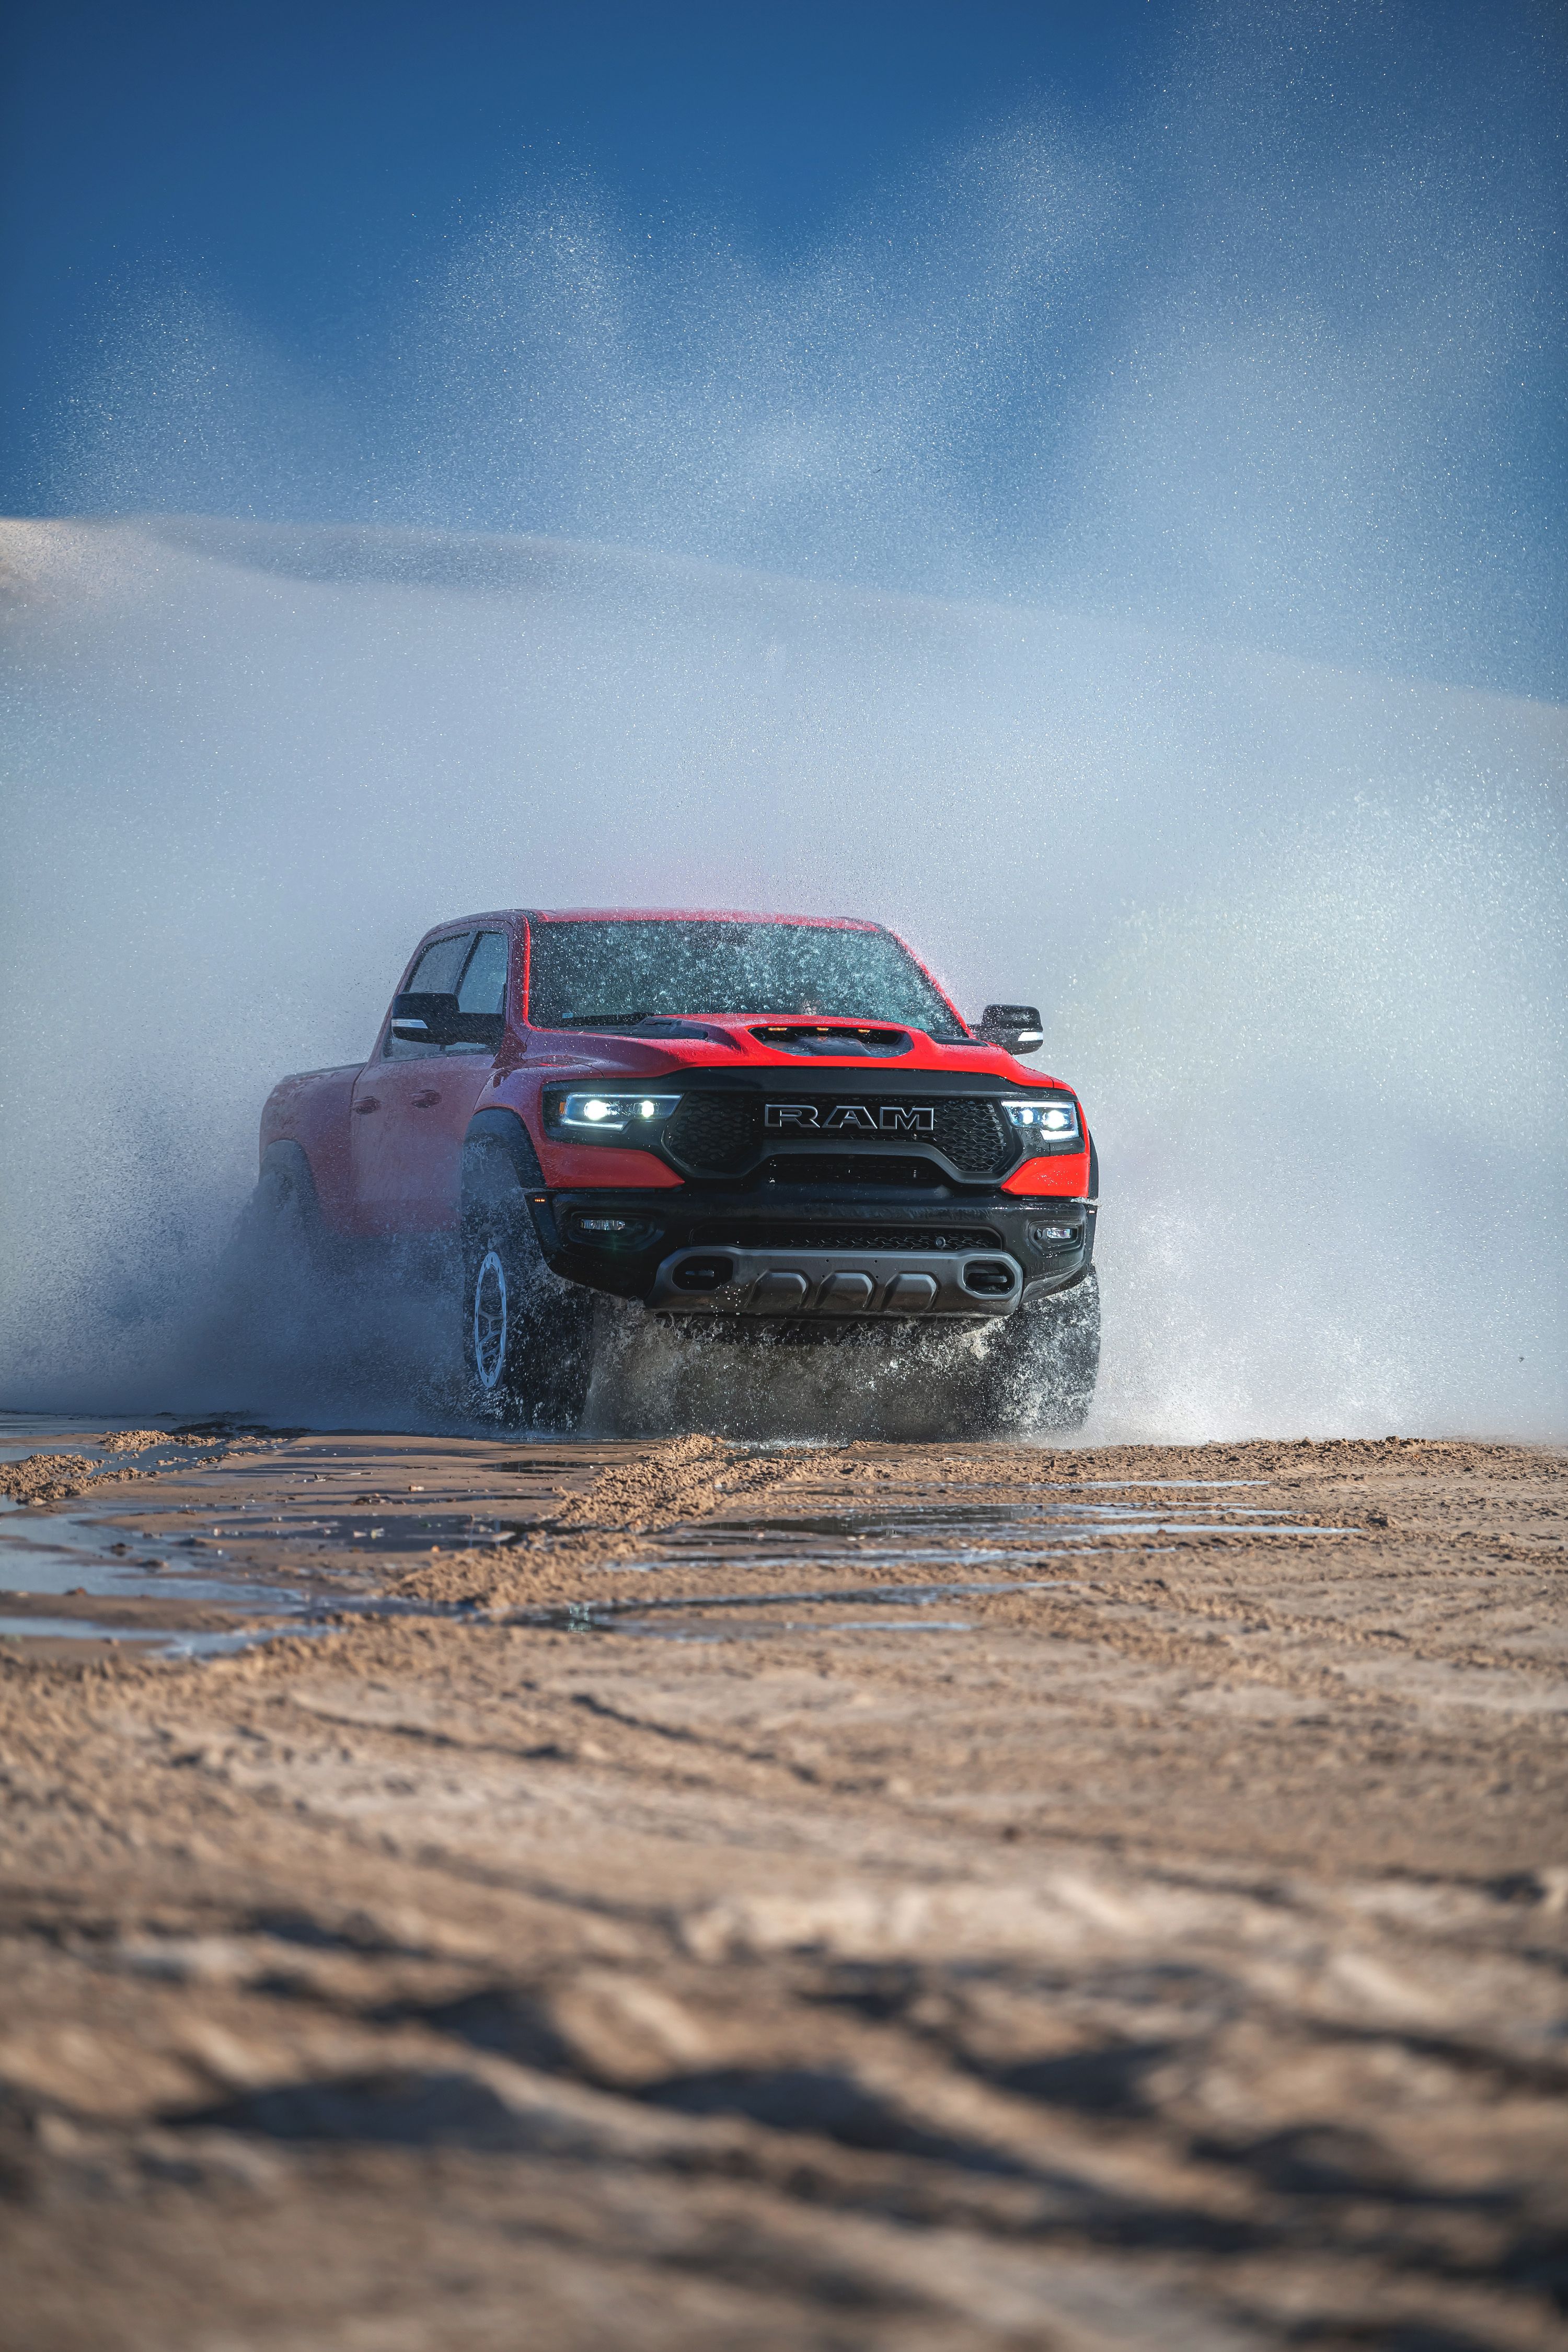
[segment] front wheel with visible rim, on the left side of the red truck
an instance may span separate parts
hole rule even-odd
[[[592,1383],[592,1298],[545,1265],[517,1171],[494,1141],[463,1152],[463,1357],[482,1414],[574,1430]]]

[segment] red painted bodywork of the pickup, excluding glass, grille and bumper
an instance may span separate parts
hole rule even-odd
[[[261,1120],[261,1148],[296,1141],[315,1176],[324,1221],[343,1232],[440,1232],[458,1216],[458,1167],[463,1134],[475,1110],[515,1110],[538,1152],[550,1188],[663,1188],[682,1185],[675,1169],[651,1152],[602,1150],[595,1145],[555,1143],[543,1131],[541,1091],[562,1077],[585,1087],[614,1082],[649,1084],[698,1070],[736,1070],[741,1065],[778,1068],[799,1080],[802,1061],[752,1037],[755,1014],[693,1014],[710,1033],[703,1040],[609,1037],[583,1030],[536,1030],[527,1023],[527,946],[529,922],[585,920],[670,920],[670,922],[813,922],[820,929],[875,931],[877,924],[839,917],[733,915],[729,910],[672,908],[574,908],[548,915],[503,910],[468,915],[437,924],[421,938],[397,988],[409,985],[423,953],[456,931],[498,929],[512,941],[505,1040],[489,1054],[423,1054],[390,1058],[390,1007],[371,1056],[362,1068],[310,1070],[287,1077],[268,1096]],[[926,967],[922,964],[922,971]],[[931,978],[931,974],[926,974]],[[933,985],[938,985],[933,981]],[[961,1018],[961,1016],[959,1016]],[[1060,1080],[1023,1068],[1011,1054],[980,1040],[940,1044],[912,1030],[912,1051],[898,1058],[900,1077],[917,1080],[922,1070],[971,1070],[987,1080],[1011,1080],[1018,1091],[1063,1087]],[[844,1070],[865,1073],[858,1056],[816,1056],[813,1075]],[[1072,1091],[1072,1089],[1063,1089]],[[1088,1190],[1088,1150],[1030,1160],[1004,1183],[1004,1192],[1084,1197]]]

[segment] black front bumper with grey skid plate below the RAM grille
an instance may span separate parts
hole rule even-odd
[[[1091,1200],[992,1192],[978,1185],[945,1200],[914,1202],[907,1190],[853,1185],[778,1185],[745,1190],[531,1192],[529,1204],[545,1261],[567,1282],[616,1298],[654,1294],[675,1251],[992,1251],[1013,1258],[1023,1303],[1032,1305],[1081,1282],[1093,1263]],[[976,1301],[976,1312],[985,1312]]]

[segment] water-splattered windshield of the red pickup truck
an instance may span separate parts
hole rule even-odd
[[[809,922],[536,922],[534,1028],[625,1030],[679,1014],[820,1014],[966,1030],[889,931]]]

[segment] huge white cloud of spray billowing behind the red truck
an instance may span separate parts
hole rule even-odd
[[[7,1402],[299,1406],[268,1084],[447,915],[750,903],[1046,1007],[1100,1430],[1568,1423],[1556,101],[1246,14],[790,266],[527,188],[353,376],[125,296],[56,501],[249,520],[5,527]]]

